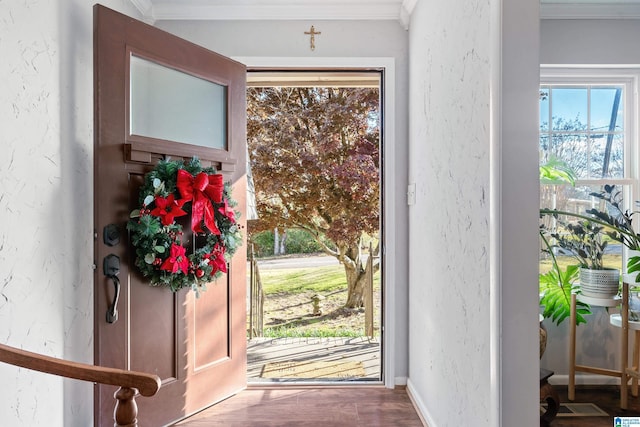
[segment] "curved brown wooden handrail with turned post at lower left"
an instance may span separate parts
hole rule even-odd
[[[139,392],[151,397],[161,385],[157,375],[70,362],[4,344],[0,344],[0,362],[65,378],[119,386],[114,394],[117,399],[114,411],[116,426],[137,426],[136,395]]]

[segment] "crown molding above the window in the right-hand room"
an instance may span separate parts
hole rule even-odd
[[[640,4],[543,2],[540,19],[640,19]]]

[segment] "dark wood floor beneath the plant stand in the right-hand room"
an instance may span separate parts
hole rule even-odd
[[[560,402],[569,402],[566,386],[554,386],[560,396]],[[608,416],[600,417],[557,417],[551,427],[612,427],[614,417],[640,417],[640,397],[629,394],[629,408],[620,409],[620,389],[617,386],[582,386],[576,387],[574,402],[594,403],[607,412]]]

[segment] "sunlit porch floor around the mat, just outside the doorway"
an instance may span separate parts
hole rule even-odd
[[[381,381],[380,340],[376,338],[254,338],[247,342],[247,379],[251,383],[345,381],[327,378],[262,378],[266,363],[273,362],[362,362],[365,375],[346,381]],[[339,364],[336,364],[339,366]]]

